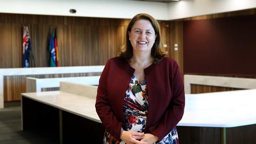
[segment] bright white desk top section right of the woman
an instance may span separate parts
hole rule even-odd
[[[256,124],[256,89],[186,94],[177,126],[236,127]]]

